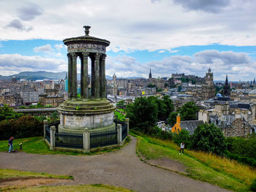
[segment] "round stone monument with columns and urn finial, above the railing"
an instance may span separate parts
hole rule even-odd
[[[60,113],[59,132],[82,133],[115,128],[116,107],[106,99],[105,58],[110,42],[89,36],[90,26],[83,26],[86,35],[64,39],[68,58],[68,99],[57,109]],[[77,58],[80,58],[80,98],[78,99]],[[88,60],[91,59],[91,78]],[[89,80],[91,91],[89,91]]]

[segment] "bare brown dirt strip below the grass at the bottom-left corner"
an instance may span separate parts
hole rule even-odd
[[[39,185],[49,185],[53,183],[64,183],[67,180],[61,179],[49,179],[49,178],[17,178],[4,180],[0,182],[0,189],[6,187],[29,187],[29,186],[39,186]]]

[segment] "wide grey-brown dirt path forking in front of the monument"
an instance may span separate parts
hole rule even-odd
[[[0,153],[0,168],[75,177],[65,185],[101,183],[135,191],[227,191],[145,164],[136,155],[135,145],[136,139],[132,137],[129,145],[121,150],[91,156]]]

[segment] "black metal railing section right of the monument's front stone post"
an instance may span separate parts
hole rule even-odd
[[[90,148],[116,144],[118,144],[116,130],[90,133]]]

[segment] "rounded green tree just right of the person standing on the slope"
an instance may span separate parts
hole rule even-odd
[[[192,149],[222,155],[227,149],[225,137],[217,126],[213,123],[204,123],[197,126],[192,135]]]

